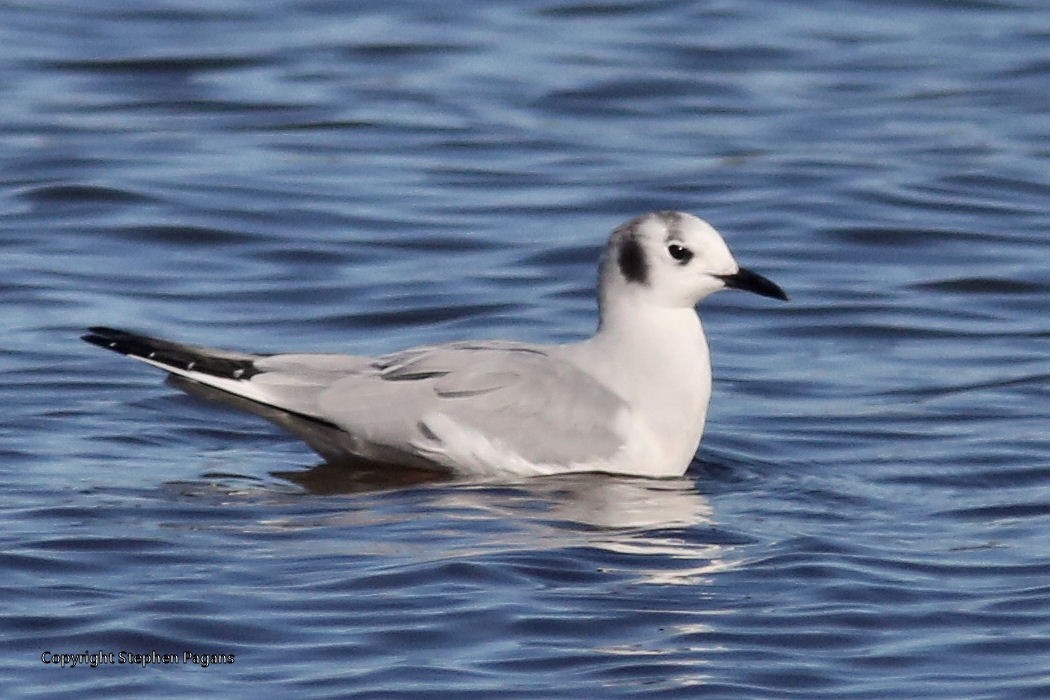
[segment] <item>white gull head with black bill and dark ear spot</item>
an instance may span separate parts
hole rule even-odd
[[[692,307],[723,289],[788,299],[775,282],[737,264],[721,235],[692,214],[653,212],[620,226],[602,257],[602,305],[632,298]]]

